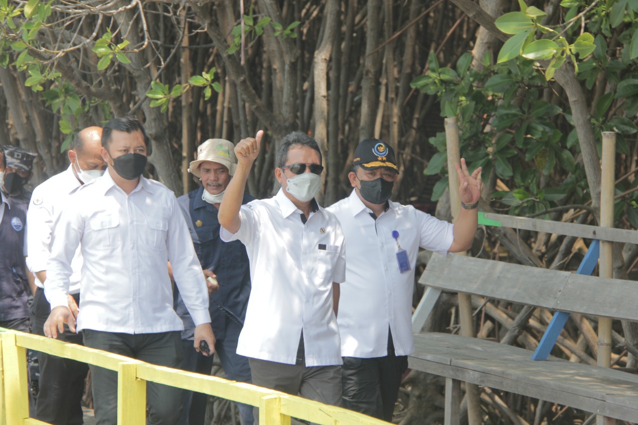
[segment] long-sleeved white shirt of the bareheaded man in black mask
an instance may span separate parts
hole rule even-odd
[[[107,170],[69,197],[52,239],[45,285],[51,308],[67,305],[78,244],[84,258],[78,331],[184,329],[173,309],[168,260],[195,325],[211,322],[202,266],[177,199],[163,184],[140,177],[126,195]]]

